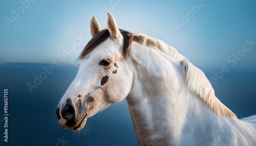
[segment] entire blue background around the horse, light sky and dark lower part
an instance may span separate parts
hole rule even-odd
[[[126,101],[88,119],[80,132],[62,129],[55,115],[61,95],[76,75],[77,57],[91,39],[91,18],[96,16],[104,29],[107,12],[120,29],[173,45],[208,79],[217,78],[213,72],[226,65],[228,72],[212,83],[217,97],[239,118],[256,114],[256,46],[236,64],[227,61],[243,50],[245,39],[256,41],[255,1],[204,1],[205,6],[179,30],[174,23],[182,23],[183,15],[200,1],[27,2],[0,2],[0,113],[4,89],[9,92],[9,142],[1,136],[0,145],[63,145],[62,138],[69,141],[66,145],[137,145]],[[13,11],[20,12],[15,19]],[[7,17],[13,21],[6,22]],[[58,54],[76,34],[85,39],[61,58]],[[34,75],[39,76],[42,66],[52,61],[59,66],[30,93],[26,84],[33,83]],[[2,116],[0,133],[4,132]]]

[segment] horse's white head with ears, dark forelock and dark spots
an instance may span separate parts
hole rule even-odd
[[[112,14],[108,13],[108,29],[101,30],[93,17],[93,38],[79,56],[79,70],[56,108],[63,128],[79,130],[88,117],[122,101],[133,84],[133,69],[127,60],[129,32],[119,30]]]

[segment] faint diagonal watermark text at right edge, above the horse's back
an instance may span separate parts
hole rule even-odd
[[[256,41],[252,41],[252,38],[250,39],[244,39],[245,43],[243,45],[243,48],[240,48],[236,53],[232,53],[227,57],[227,62],[230,63],[230,66],[234,66],[237,64],[238,61],[240,61],[245,55],[246,52],[249,52],[251,48],[256,44]],[[212,71],[212,74],[214,74],[213,77],[209,78],[209,81],[212,85],[215,85],[218,83],[219,80],[221,80],[229,71],[229,67],[227,65],[222,65],[220,70]]]

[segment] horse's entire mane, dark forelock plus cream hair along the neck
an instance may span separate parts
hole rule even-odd
[[[209,109],[219,116],[236,116],[230,109],[228,109],[220,100],[215,96],[214,89],[212,88],[209,80],[204,75],[203,71],[192,63],[188,62],[188,59],[178,53],[176,48],[169,46],[162,40],[153,38],[144,34],[131,33],[119,29],[123,36],[123,57],[127,59],[130,54],[130,48],[132,42],[142,44],[142,46],[148,46],[163,52],[164,54],[177,59],[182,63],[182,72],[186,76],[186,82],[188,88],[198,95],[207,104]],[[110,36],[108,29],[101,30],[99,33],[88,42],[86,47],[83,48],[79,59],[85,57],[94,50],[100,43],[106,40]]]

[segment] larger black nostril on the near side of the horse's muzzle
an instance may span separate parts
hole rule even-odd
[[[67,121],[73,121],[75,119],[76,113],[71,99],[66,101],[65,107],[61,110],[61,115],[63,118],[67,119]]]

